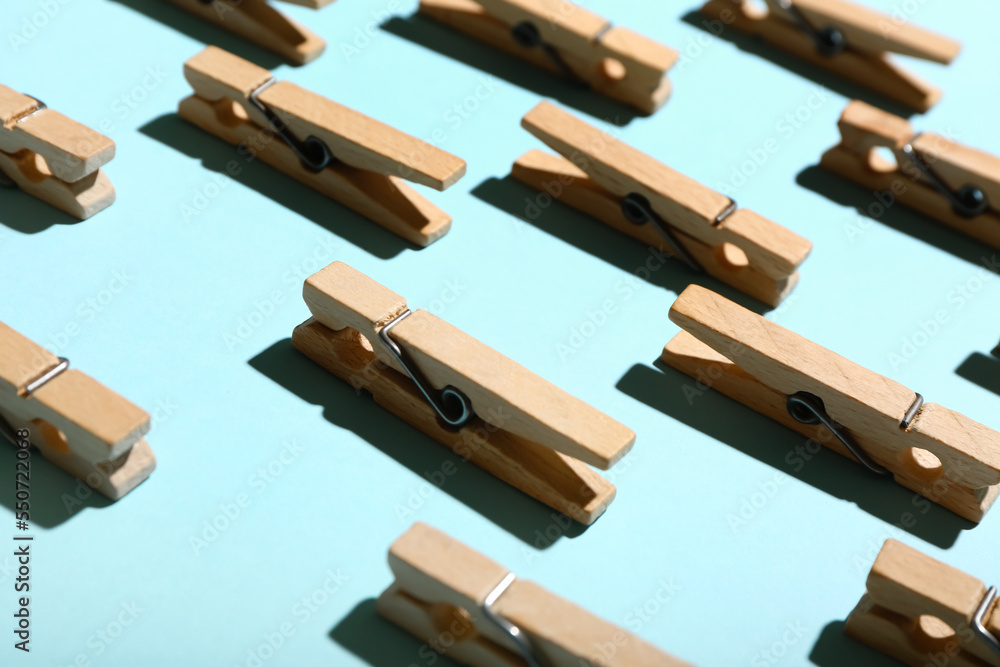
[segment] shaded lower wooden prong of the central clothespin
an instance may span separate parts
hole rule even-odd
[[[461,429],[441,425],[409,376],[388,367],[356,330],[334,331],[314,319],[292,333],[297,350],[372,394],[390,413],[491,475],[575,521],[590,525],[615,497],[615,487],[583,463],[475,418]],[[360,400],[360,399],[359,399]]]

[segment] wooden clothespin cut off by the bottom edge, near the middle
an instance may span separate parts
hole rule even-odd
[[[690,667],[425,524],[396,540],[389,566],[379,614],[463,665]]]

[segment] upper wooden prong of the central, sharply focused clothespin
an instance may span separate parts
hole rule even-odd
[[[383,363],[403,371],[377,339],[382,326],[405,310],[401,297],[334,262],[307,279],[303,298],[317,321],[359,331]],[[392,338],[431,385],[458,388],[480,417],[513,435],[601,469],[635,442],[630,429],[431,313],[418,310],[401,320]]]

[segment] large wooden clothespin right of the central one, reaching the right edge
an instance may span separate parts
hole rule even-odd
[[[670,319],[663,361],[682,373],[970,521],[1000,493],[1000,433],[703,287]]]

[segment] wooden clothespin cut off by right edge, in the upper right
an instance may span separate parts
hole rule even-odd
[[[881,197],[940,220],[1000,248],[1000,157],[931,132],[914,133],[909,121],[853,101],[840,116],[840,144],[820,165]],[[896,164],[876,149],[892,151]],[[878,194],[878,193],[876,193]]]

